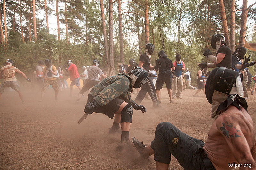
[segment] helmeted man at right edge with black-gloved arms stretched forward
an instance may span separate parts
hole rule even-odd
[[[248,63],[250,61],[250,56],[248,58],[245,57],[245,59],[244,59],[245,54],[246,54],[245,47],[237,47],[236,48],[236,51],[232,54],[232,68],[235,71],[243,73],[244,76],[243,76],[242,85],[243,85],[243,89],[244,89],[244,98],[248,99],[248,92],[246,89],[246,84],[248,82],[248,76],[244,69],[249,66],[253,66],[255,64],[255,62]],[[244,64],[241,63],[241,59],[244,59]]]

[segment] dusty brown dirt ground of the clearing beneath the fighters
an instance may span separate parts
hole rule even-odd
[[[69,97],[69,89],[59,93],[55,101],[53,89],[48,89],[44,101],[39,95],[22,88],[26,103],[22,104],[17,92],[4,92],[0,100],[0,169],[86,169],[86,170],[154,170],[153,156],[145,160],[128,146],[116,152],[121,134],[109,135],[113,120],[103,114],[88,115],[81,124],[87,97],[75,104],[78,89]],[[141,104],[147,113],[134,111],[130,137],[150,144],[155,128],[160,122],[171,122],[192,137],[207,138],[213,120],[211,105],[203,91],[192,97],[195,91],[181,93],[182,99],[170,104],[167,90],[162,89],[162,103],[152,108],[152,101]],[[132,94],[135,99],[136,94]],[[256,122],[255,95],[249,95],[248,111]],[[169,169],[182,167],[172,157]]]

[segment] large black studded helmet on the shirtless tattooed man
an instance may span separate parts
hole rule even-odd
[[[213,69],[209,74],[205,85],[205,95],[208,102],[212,104],[212,96],[215,90],[227,95],[238,94],[242,97],[242,79],[242,73],[227,69],[226,67],[217,67]]]

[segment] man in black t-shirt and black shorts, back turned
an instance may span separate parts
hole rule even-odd
[[[161,92],[164,83],[166,84],[167,92],[170,98],[170,103],[172,103],[172,71],[175,70],[175,67],[172,63],[172,60],[167,58],[167,55],[163,50],[158,53],[157,63],[162,63],[159,68],[158,78],[156,80],[156,94],[158,98],[158,102],[161,103]],[[172,69],[172,70],[171,70]]]

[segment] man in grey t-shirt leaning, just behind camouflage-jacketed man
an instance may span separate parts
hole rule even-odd
[[[102,76],[103,78],[107,78],[107,76],[102,72],[102,70],[99,68],[100,61],[94,59],[92,61],[92,66],[88,67],[87,73],[88,73],[88,79],[86,84],[82,87],[80,90],[76,103],[79,103],[79,100],[81,99],[82,95],[92,88],[94,85],[97,85],[100,82],[99,76]]]

